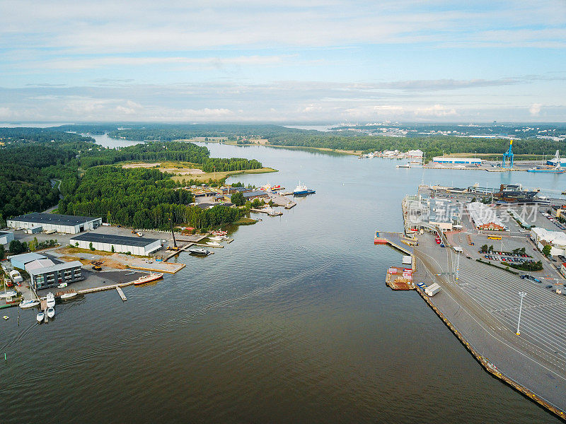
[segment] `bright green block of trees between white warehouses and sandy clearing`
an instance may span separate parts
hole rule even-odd
[[[92,167],[75,194],[61,202],[59,212],[102,216],[112,223],[134,228],[161,229],[169,228],[169,218],[173,223],[208,228],[240,217],[238,209],[226,206],[205,210],[189,206],[192,194],[175,187],[170,175],[158,170]]]

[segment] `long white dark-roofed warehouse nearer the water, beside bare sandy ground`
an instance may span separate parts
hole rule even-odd
[[[69,243],[81,249],[103,250],[105,252],[131,253],[139,256],[147,256],[161,248],[161,240],[129,237],[126,235],[98,234],[96,232],[85,232],[81,235],[71,237]]]

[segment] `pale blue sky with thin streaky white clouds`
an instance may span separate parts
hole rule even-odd
[[[0,1],[0,122],[566,122],[566,1]]]

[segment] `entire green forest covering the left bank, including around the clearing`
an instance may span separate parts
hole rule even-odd
[[[112,166],[125,160],[178,160],[212,172],[262,167],[257,160],[209,158],[207,148],[193,143],[150,142],[125,148],[103,148],[90,137],[45,129],[0,129],[0,223],[3,218],[43,211],[59,202],[50,179],[62,181],[59,213],[101,216],[135,228],[167,228],[190,223],[197,228],[233,222],[240,211],[217,206],[202,211],[188,206],[186,190],[175,189],[171,175],[158,170]]]

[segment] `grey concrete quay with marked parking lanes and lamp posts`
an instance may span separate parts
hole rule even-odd
[[[441,291],[429,298],[417,289],[420,295],[487,372],[565,418],[566,337],[557,326],[566,314],[566,298],[466,257],[456,280],[451,249],[423,238],[415,249],[415,281],[437,282]],[[515,334],[519,290],[530,299],[523,307],[521,336]],[[550,305],[556,310],[548,312]],[[557,313],[555,319],[550,315]]]

